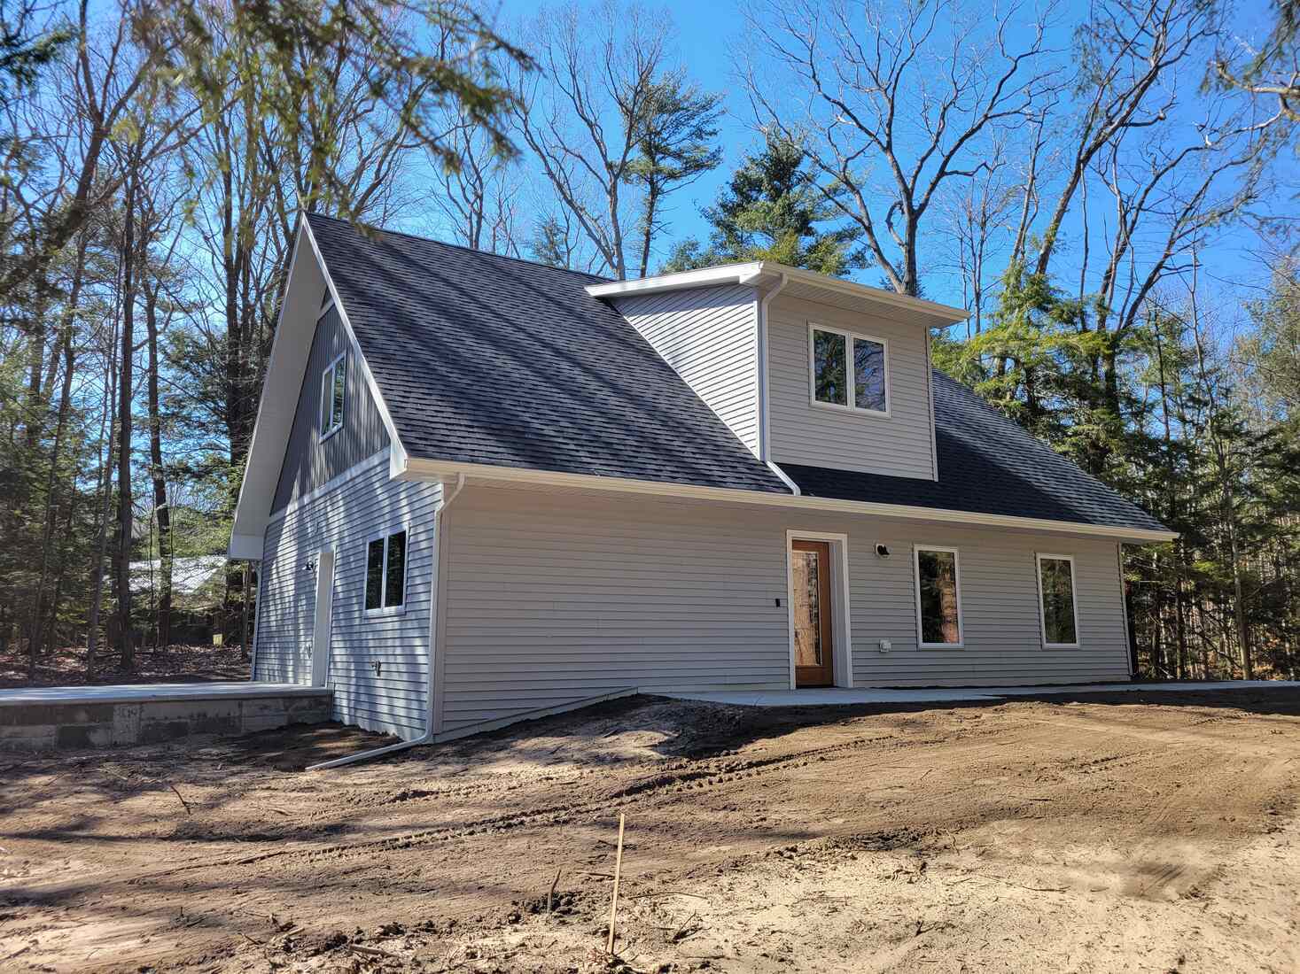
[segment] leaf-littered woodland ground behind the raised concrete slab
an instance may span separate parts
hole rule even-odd
[[[248,679],[248,661],[238,645],[169,645],[135,652],[135,668],[124,670],[121,657],[101,651],[90,686],[112,683],[211,683]],[[36,661],[36,678],[27,677],[27,653],[10,648],[0,653],[0,688],[86,686],[86,648],[65,647]]]

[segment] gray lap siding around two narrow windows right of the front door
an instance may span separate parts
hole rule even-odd
[[[876,522],[850,536],[854,683],[963,686],[1078,683],[1128,678],[1128,644],[1115,544],[1109,540],[998,531],[923,530]],[[892,556],[878,558],[875,544]],[[913,545],[958,548],[965,648],[916,645]],[[1072,555],[1079,647],[1045,649],[1039,621],[1036,552]],[[892,648],[881,653],[879,640]]]

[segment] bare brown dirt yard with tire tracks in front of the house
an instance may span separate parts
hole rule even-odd
[[[1300,970],[1295,690],[374,740],[0,756],[0,970]]]

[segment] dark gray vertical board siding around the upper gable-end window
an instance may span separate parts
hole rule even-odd
[[[342,352],[347,352],[343,429],[321,442],[321,374]],[[360,355],[352,348],[338,309],[332,308],[316,323],[272,512],[283,510],[295,497],[309,493],[386,445],[389,432],[361,374]]]

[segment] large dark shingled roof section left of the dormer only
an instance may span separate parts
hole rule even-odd
[[[308,222],[408,456],[789,493],[602,278]]]

